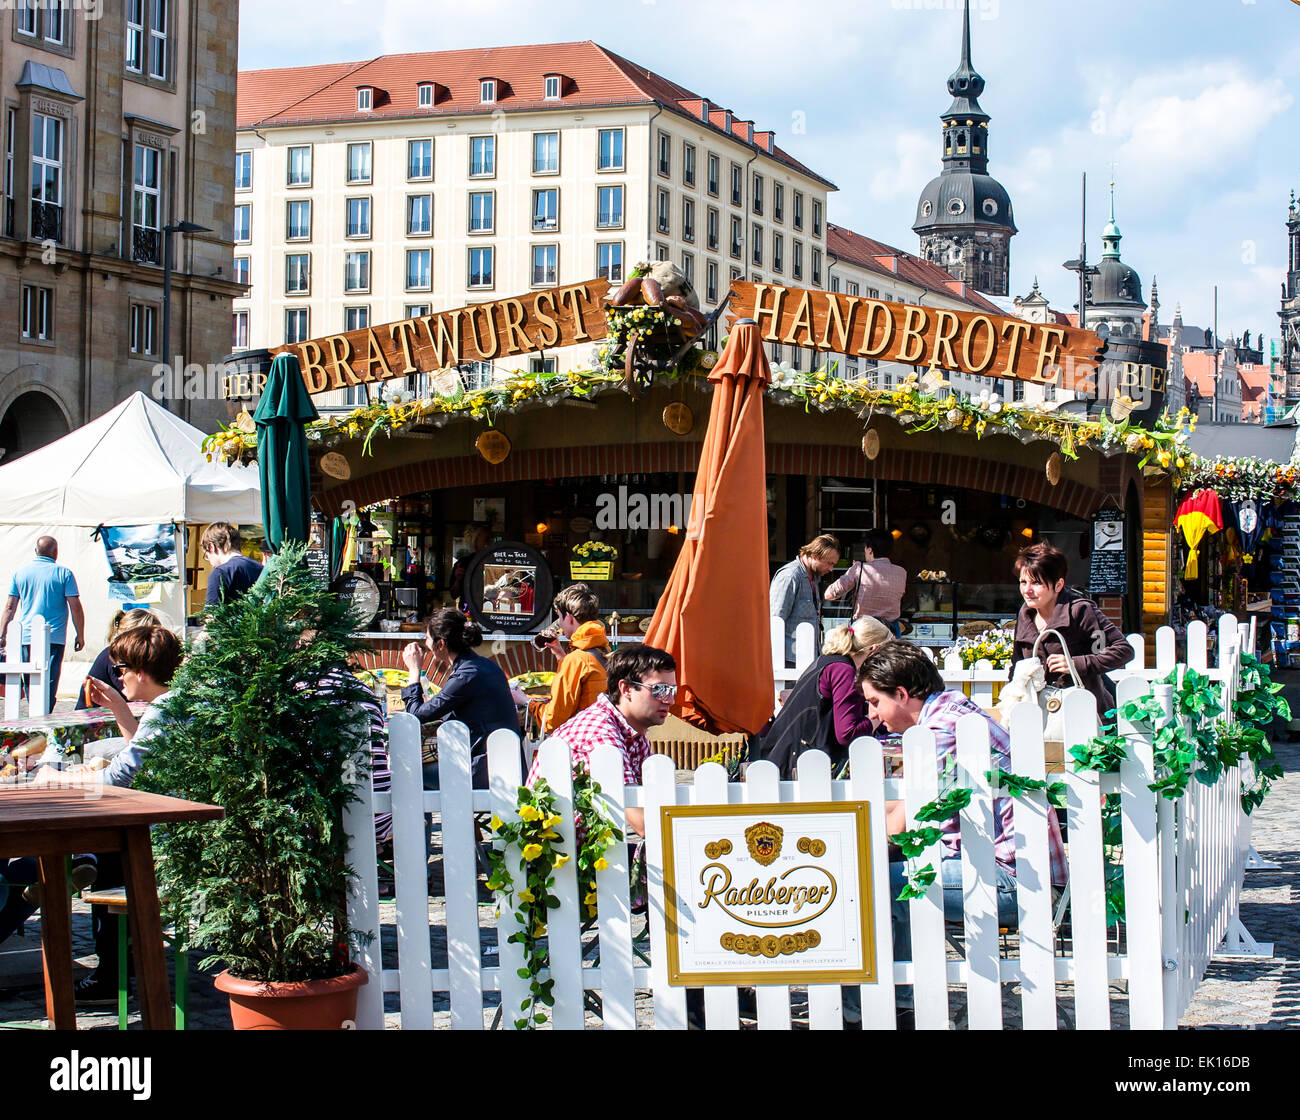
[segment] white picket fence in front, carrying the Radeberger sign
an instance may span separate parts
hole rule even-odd
[[[1130,674],[1119,682],[1118,696],[1123,702],[1148,689],[1144,677]],[[1089,696],[1079,695],[1070,695],[1066,703],[1070,745],[1087,741],[1097,725],[1095,704]],[[519,741],[508,732],[491,735],[490,789],[472,790],[468,732],[459,724],[443,725],[438,737],[442,790],[425,791],[416,720],[394,715],[389,726],[393,791],[376,795],[363,782],[360,799],[346,821],[350,861],[358,872],[350,917],[355,928],[373,935],[360,956],[370,980],[361,989],[358,1025],[381,1029],[384,997],[396,994],[403,1029],[429,1029],[445,1020],[445,1012],[436,1015],[436,1004],[450,1007],[452,1028],[482,1029],[491,1023],[498,999],[506,1008],[503,1021],[510,1026],[526,995],[526,982],[516,973],[523,964],[521,950],[504,941],[514,928],[512,916],[506,913],[494,921],[490,908],[480,904],[474,815],[495,812],[503,820],[516,817],[521,777]],[[892,961],[884,813],[871,813],[872,912],[881,967],[880,981],[861,989],[863,1026],[892,1028],[894,987],[911,984],[919,1028],[945,1029],[957,1013],[978,1029],[997,1029],[1009,1020],[1030,1029],[1060,1025],[1109,1029],[1117,1020],[1135,1029],[1173,1029],[1227,926],[1240,889],[1239,780],[1210,787],[1193,782],[1176,804],[1160,799],[1148,787],[1154,776],[1150,742],[1132,734],[1132,729],[1122,729],[1128,732],[1130,751],[1117,774],[1075,773],[1069,768],[1060,774],[1067,790],[1067,930],[1056,925],[1058,894],[1053,893],[1049,874],[1046,795],[1034,793],[1014,800],[1018,923],[1014,932],[1001,932],[993,887],[993,798],[985,778],[985,770],[992,768],[987,729],[979,716],[968,716],[958,726],[956,781],[975,790],[961,813],[963,924],[945,924],[936,881],[924,898],[909,904],[911,961]],[[1022,704],[1011,713],[1010,738],[1013,772],[1045,777],[1041,717],[1035,706]],[[693,785],[676,785],[672,760],[656,755],[646,761],[640,787],[623,785],[621,757],[615,750],[598,750],[592,756],[592,773],[604,791],[614,820],[624,828],[628,807],[640,806],[646,812],[649,938],[634,941],[641,919],[630,911],[625,846],[610,850],[610,867],[598,874],[598,920],[592,929],[584,930],[580,919],[573,863],[559,869],[562,904],[547,923],[550,969],[555,978],[550,1025],[555,1029],[590,1025],[584,993],[595,993],[601,998],[601,1025],[633,1029],[637,993],[649,993],[655,1028],[685,1029],[685,990],[667,982],[659,833],[663,806],[849,799],[883,806],[887,799],[904,798],[909,807],[918,807],[939,790],[933,739],[928,730],[914,728],[904,735],[902,746],[901,780],[885,780],[880,745],[864,738],[850,747],[848,781],[832,781],[828,759],[811,752],[801,756],[796,782],[780,781],[770,763],[755,763],[744,783],[728,783],[722,767],[705,764],[696,772]],[[568,748],[554,737],[541,747],[541,772],[559,800],[562,847],[572,852]],[[1123,825],[1124,923],[1119,938],[1106,928],[1102,798],[1109,794],[1119,798]],[[380,920],[370,821],[376,811],[391,811],[394,817],[391,923]],[[441,824],[445,876],[441,923],[430,916],[437,899],[430,898],[426,880],[426,816]],[[933,855],[937,860],[937,848]],[[439,950],[437,959],[434,925],[446,933],[445,951]],[[497,932],[489,932],[493,925]],[[950,946],[959,946],[959,952],[949,951]],[[389,965],[384,964],[385,954],[390,956]],[[644,963],[638,954],[650,963]],[[893,967],[887,967],[890,963]],[[1127,993],[1115,986],[1121,980],[1127,981]],[[842,1024],[837,985],[760,986],[755,998],[759,1029],[790,1029],[796,1019],[806,1019],[811,1028]],[[957,1002],[965,1004],[963,1012],[953,1006]],[[707,1028],[738,1026],[736,987],[706,989],[703,1007]]]

